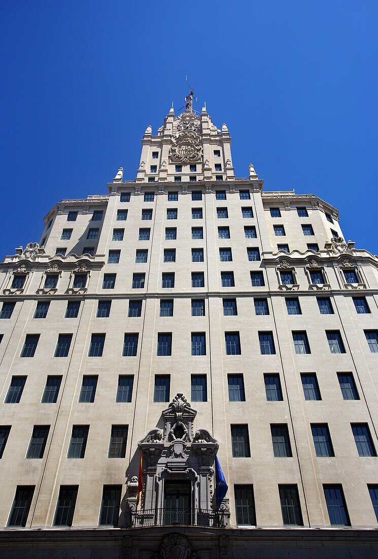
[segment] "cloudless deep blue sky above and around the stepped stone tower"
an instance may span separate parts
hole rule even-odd
[[[378,3],[3,0],[0,258],[61,198],[134,179],[185,74],[232,135],[236,176],[314,193],[378,253]]]

